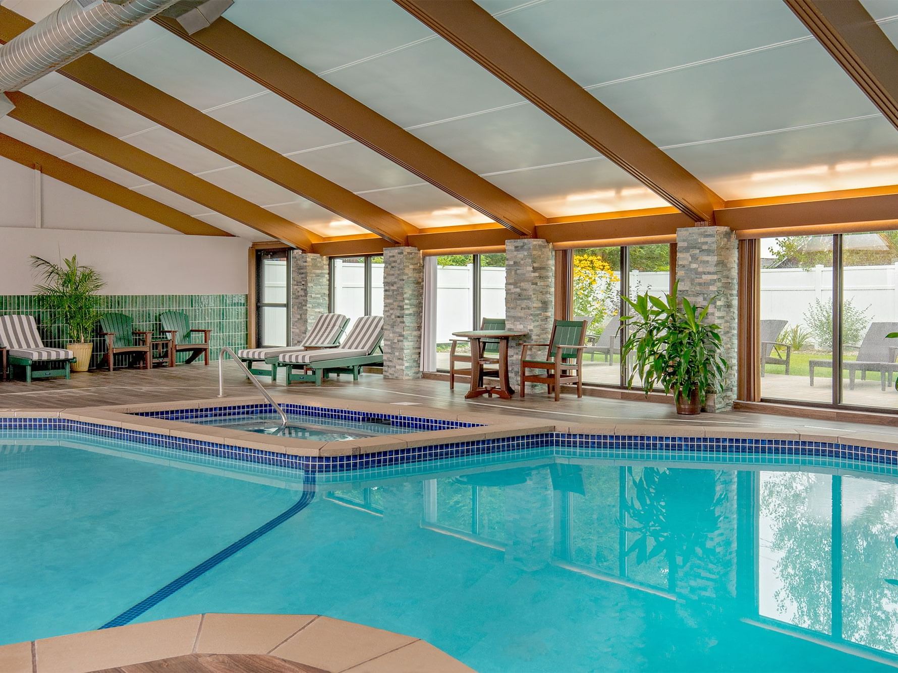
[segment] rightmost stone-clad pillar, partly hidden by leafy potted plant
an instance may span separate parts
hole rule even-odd
[[[736,388],[736,288],[738,255],[735,233],[728,227],[689,227],[676,232],[676,277],[680,296],[705,306],[718,295],[709,319],[720,326],[724,357],[730,369],[715,400],[715,411],[733,407]]]

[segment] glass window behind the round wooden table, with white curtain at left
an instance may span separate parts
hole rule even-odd
[[[480,327],[484,318],[505,318],[506,255],[441,255],[436,258],[436,283],[430,301],[436,302],[436,329],[427,330],[425,344],[435,354],[433,367],[449,369],[453,332]],[[467,352],[467,344],[458,345]]]

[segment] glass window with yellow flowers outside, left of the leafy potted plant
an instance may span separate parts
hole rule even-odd
[[[621,367],[621,293],[660,295],[670,289],[670,246],[585,248],[573,252],[571,268],[572,317],[587,319],[583,380],[607,386],[625,384]],[[638,383],[638,381],[637,381]]]

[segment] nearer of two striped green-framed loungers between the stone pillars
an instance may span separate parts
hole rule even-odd
[[[382,341],[383,317],[362,316],[349,328],[339,348],[276,355],[265,362],[287,368],[287,385],[295,380],[313,380],[320,386],[322,378],[343,371],[352,373],[352,380],[358,380],[358,372],[365,365],[383,364]],[[302,373],[295,374],[295,369],[301,369]]]

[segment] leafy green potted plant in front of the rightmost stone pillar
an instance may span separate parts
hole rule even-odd
[[[678,414],[698,414],[705,399],[717,393],[729,368],[723,356],[720,328],[709,322],[708,310],[677,297],[677,283],[664,299],[649,293],[635,300],[624,297],[632,314],[624,316],[629,337],[621,349],[632,365],[627,387],[637,375],[646,394],[660,387],[674,395]]]

